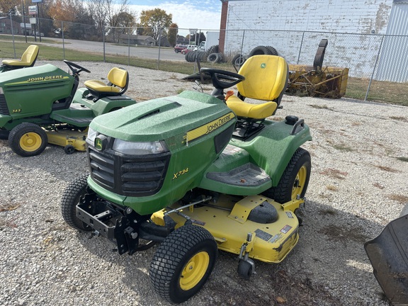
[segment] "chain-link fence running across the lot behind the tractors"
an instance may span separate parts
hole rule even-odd
[[[214,31],[214,30],[211,30]],[[191,29],[178,29],[179,33],[191,33]],[[12,16],[0,13],[0,39],[16,42],[50,42],[57,40],[62,48],[61,60],[65,58],[65,50],[69,48],[67,40],[84,42],[84,50],[101,55],[106,54],[127,57],[148,57],[157,60],[174,60],[162,47],[174,47],[175,43],[199,44],[207,30],[196,30],[193,42],[184,36],[176,35],[169,39],[170,33],[157,29],[142,28],[98,28],[95,25],[53,21],[31,16]],[[151,33],[151,35],[141,35]],[[352,33],[323,33],[310,31],[281,30],[226,30],[221,31],[224,37],[223,52],[225,60],[234,55],[249,55],[254,47],[270,46],[279,55],[285,57],[290,64],[312,65],[320,40],[327,39],[329,44],[324,55],[324,66],[348,67],[349,77],[361,79],[360,84],[367,86],[367,98],[372,81],[408,81],[408,36],[407,35],[366,35]],[[171,40],[171,41],[170,41]],[[60,43],[61,42],[61,43]],[[92,43],[95,42],[95,43]],[[98,43],[97,43],[98,42]],[[109,49],[108,47],[109,46]],[[149,52],[137,52],[130,46],[151,47]],[[222,46],[220,46],[222,49]],[[17,58],[16,47],[13,50],[1,50],[0,58]],[[171,49],[172,50],[172,49]],[[78,50],[80,51],[80,50]],[[164,52],[166,51],[166,52]],[[183,60],[179,55],[176,60]]]

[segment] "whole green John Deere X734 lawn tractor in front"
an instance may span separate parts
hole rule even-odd
[[[90,175],[70,183],[61,201],[68,225],[106,237],[119,254],[159,242],[149,276],[176,303],[202,288],[218,249],[237,254],[244,278],[254,259],[285,259],[299,239],[310,179],[304,120],[266,119],[288,82],[283,57],[251,57],[239,74],[204,70],[212,94],[184,91],[95,118]],[[225,94],[235,84],[238,96]]]

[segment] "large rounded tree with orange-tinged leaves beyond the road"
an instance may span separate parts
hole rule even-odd
[[[140,13],[139,26],[145,29],[140,32],[145,35],[151,35],[152,38],[157,41],[159,35],[162,35],[162,30],[171,25],[172,19],[173,16],[171,14],[167,14],[166,11],[160,8],[142,11],[142,13]]]

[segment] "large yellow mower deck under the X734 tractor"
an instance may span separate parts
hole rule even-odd
[[[261,224],[248,220],[249,213],[264,201],[272,204],[278,212],[278,220],[273,223]],[[292,200],[280,205],[263,196],[247,196],[237,198],[222,196],[215,205],[203,205],[198,208],[186,208],[181,213],[191,217],[194,225],[208,229],[217,242],[218,248],[234,254],[240,254],[242,245],[246,245],[249,257],[267,263],[279,263],[289,253],[299,239],[299,221],[294,213],[304,200]],[[174,205],[172,208],[176,208]],[[169,209],[168,209],[169,210]],[[152,215],[152,220],[158,225],[164,225],[165,210]],[[169,216],[180,227],[186,219],[176,212]],[[248,234],[251,241],[247,241]]]

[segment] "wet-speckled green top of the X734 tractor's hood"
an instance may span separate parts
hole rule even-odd
[[[223,118],[225,115],[227,117]],[[221,128],[231,120],[231,123],[235,122],[234,114],[219,99],[184,91],[179,96],[157,98],[98,116],[90,127],[103,135],[130,142],[169,140],[177,135],[183,135],[189,141]],[[186,131],[200,127],[196,133],[202,135],[188,132],[186,135]]]

